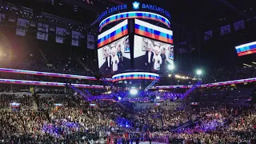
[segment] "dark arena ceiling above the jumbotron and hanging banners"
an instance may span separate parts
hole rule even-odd
[[[88,4],[92,1],[94,4]],[[138,0],[140,1],[140,0]],[[107,7],[117,6],[130,0],[5,0],[3,2],[15,3],[19,6],[27,6],[34,11],[44,11],[56,14],[64,18],[70,18],[78,22],[90,24],[97,15]],[[141,0],[162,6],[168,10],[175,26],[186,26],[193,29],[194,26],[203,26],[205,29],[211,26],[222,26],[229,22],[241,19],[254,18],[256,6],[254,1],[239,0]],[[75,12],[74,9],[77,9]]]

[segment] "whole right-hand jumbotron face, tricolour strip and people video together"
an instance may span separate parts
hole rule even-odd
[[[172,31],[135,20],[134,68],[148,71],[166,70],[174,65]]]

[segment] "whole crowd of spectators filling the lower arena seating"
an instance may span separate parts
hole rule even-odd
[[[153,141],[169,138],[170,142],[249,142],[256,134],[256,110],[253,103],[241,105],[241,102],[234,103],[231,100],[241,98],[241,94],[234,97],[238,90],[242,91],[246,98],[249,98],[253,91],[248,86],[230,89],[230,92],[226,92],[225,88],[201,88],[192,94],[207,96],[200,99],[201,106],[187,104],[177,110],[164,110],[159,106],[144,110],[127,110],[121,102],[86,102],[79,94],[6,93],[0,96],[0,142],[92,143],[98,140],[104,143],[110,134],[122,138],[122,134],[127,131],[130,138],[132,133],[136,132],[141,141],[143,137],[147,137],[146,132],[150,131]],[[250,92],[245,95],[246,91]],[[226,92],[224,99],[228,101],[222,98],[209,101],[211,97],[216,97],[222,92]],[[18,111],[10,109],[11,102],[21,103],[21,108]],[[23,109],[33,106],[34,103],[38,107],[37,110]],[[6,109],[8,107],[9,109]]]

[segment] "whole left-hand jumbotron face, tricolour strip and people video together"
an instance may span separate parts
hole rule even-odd
[[[115,74],[130,69],[128,21],[98,35],[98,68],[102,74]]]

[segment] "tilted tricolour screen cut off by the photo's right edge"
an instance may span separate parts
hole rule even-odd
[[[238,56],[256,53],[256,42],[246,43],[240,46],[235,46]]]

